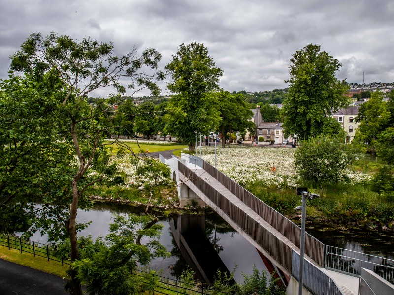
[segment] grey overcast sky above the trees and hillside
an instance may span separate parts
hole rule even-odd
[[[220,86],[256,92],[287,87],[289,59],[309,43],[342,63],[339,79],[394,81],[393,0],[0,0],[0,78],[31,33],[135,45],[171,60],[179,45],[203,43],[223,70]],[[170,79],[170,77],[167,77]],[[169,94],[165,82],[162,94]],[[113,90],[100,90],[107,95]],[[148,95],[139,93],[136,96]]]

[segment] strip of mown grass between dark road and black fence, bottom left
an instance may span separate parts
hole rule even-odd
[[[44,257],[34,257],[31,253],[21,253],[18,250],[8,250],[7,247],[0,246],[0,258],[11,261],[23,266],[28,266],[46,273],[54,274],[59,277],[66,277],[68,265],[62,266],[62,263],[56,261],[47,261]]]

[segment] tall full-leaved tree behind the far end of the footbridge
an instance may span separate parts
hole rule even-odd
[[[208,134],[219,126],[217,102],[207,95],[220,90],[223,71],[215,66],[203,44],[181,44],[165,67],[172,81],[167,88],[176,93],[170,99],[167,131],[195,149],[195,132]]]

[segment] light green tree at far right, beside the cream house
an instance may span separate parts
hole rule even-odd
[[[356,130],[354,139],[365,145],[372,158],[376,155],[377,137],[385,130],[390,119],[390,112],[386,107],[387,103],[383,101],[382,92],[373,92],[371,98],[362,104],[359,115],[355,118],[355,122],[360,122],[360,126]]]

